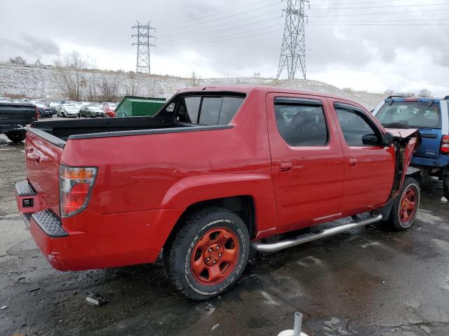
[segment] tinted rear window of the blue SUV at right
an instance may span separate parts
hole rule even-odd
[[[376,118],[387,127],[389,124],[401,124],[408,127],[441,128],[438,105],[429,106],[429,102],[393,102],[391,105],[384,104]]]

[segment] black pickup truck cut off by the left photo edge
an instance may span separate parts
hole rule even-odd
[[[36,106],[27,103],[0,103],[0,134],[14,143],[25,140],[27,125],[39,119]]]

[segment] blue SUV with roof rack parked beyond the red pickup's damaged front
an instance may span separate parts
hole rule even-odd
[[[417,98],[389,96],[373,111],[389,128],[417,128],[421,144],[411,165],[419,168],[424,182],[428,176],[443,181],[443,195],[449,199],[449,96]]]

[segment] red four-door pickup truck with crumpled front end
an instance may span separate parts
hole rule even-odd
[[[153,118],[33,123],[16,198],[56,269],[155,262],[162,251],[173,285],[203,300],[236,283],[251,246],[279,251],[381,220],[409,228],[418,139],[391,132],[328,94],[197,87]]]

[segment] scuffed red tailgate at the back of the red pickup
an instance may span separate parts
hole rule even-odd
[[[59,164],[62,148],[51,144],[39,135],[27,132],[25,163],[27,179],[39,194],[41,209],[59,209]]]

